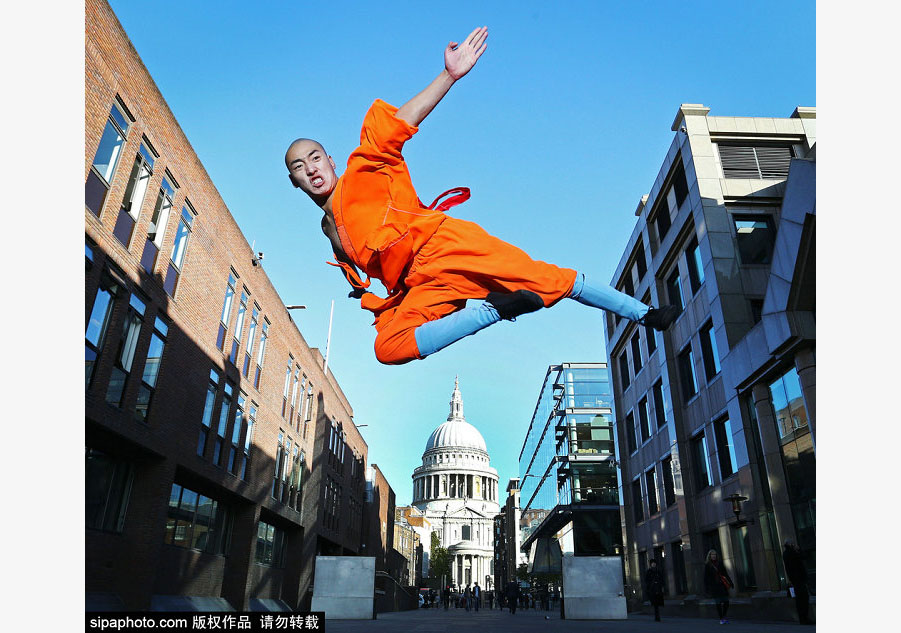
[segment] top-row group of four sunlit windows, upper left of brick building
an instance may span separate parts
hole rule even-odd
[[[110,108],[100,144],[97,146],[97,152],[85,182],[85,207],[97,217],[100,217],[104,204],[107,202],[119,160],[128,144],[128,132],[134,122],[134,117],[117,96]],[[142,136],[138,150],[135,152],[134,162],[125,187],[125,195],[119,206],[113,228],[113,235],[126,249],[133,246],[134,229],[141,217],[158,159],[159,153],[154,149],[150,140],[146,136]],[[167,243],[166,235],[172,209],[177,208],[175,199],[178,189],[179,185],[175,177],[168,169],[164,169],[147,228],[146,239],[141,245],[141,266],[150,275],[154,274],[159,254]],[[184,197],[181,215],[174,227],[175,235],[169,240],[171,250],[168,253],[169,259],[163,276],[163,287],[172,297],[175,296],[178,280],[182,273],[188,240],[196,216],[197,211],[188,198]]]

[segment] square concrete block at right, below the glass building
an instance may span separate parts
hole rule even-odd
[[[625,620],[618,556],[564,556],[564,609],[569,620]]]

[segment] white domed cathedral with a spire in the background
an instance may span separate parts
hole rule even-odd
[[[451,583],[494,581],[494,517],[499,512],[497,471],[482,434],[463,416],[454,381],[450,414],[429,436],[422,465],[413,471],[413,506],[451,556]]]

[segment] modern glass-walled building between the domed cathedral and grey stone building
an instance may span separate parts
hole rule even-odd
[[[519,472],[521,549],[529,553],[533,571],[538,552],[620,553],[619,479],[606,363],[548,368],[519,455]]]

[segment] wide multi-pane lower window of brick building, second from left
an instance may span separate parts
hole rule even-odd
[[[218,501],[177,483],[172,484],[166,544],[208,554],[225,554],[230,528],[229,513]]]

